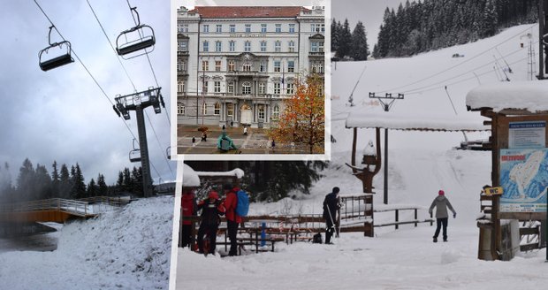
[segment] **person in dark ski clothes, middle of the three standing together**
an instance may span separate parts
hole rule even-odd
[[[209,250],[205,254],[215,254],[217,229],[221,217],[225,215],[225,206],[219,201],[215,191],[209,192],[208,199],[198,202],[198,210],[202,210],[202,221],[198,229],[198,252],[203,253],[203,239],[209,239]]]

